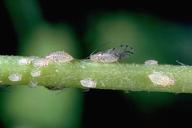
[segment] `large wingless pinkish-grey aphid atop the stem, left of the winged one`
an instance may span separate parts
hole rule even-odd
[[[50,53],[45,58],[53,62],[69,62],[73,60],[73,57],[64,51]]]

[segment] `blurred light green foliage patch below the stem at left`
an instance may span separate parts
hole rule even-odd
[[[81,93],[44,87],[13,87],[4,101],[4,121],[9,127],[75,128],[80,125]]]

